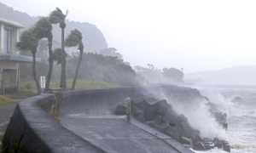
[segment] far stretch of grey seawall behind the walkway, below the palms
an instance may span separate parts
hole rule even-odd
[[[160,90],[160,88],[160,86],[152,86],[148,88],[110,88],[71,91],[63,94],[63,100],[59,104],[59,111],[62,115],[74,113],[86,115],[115,114],[116,106],[124,104],[125,98],[135,98],[141,93],[147,94]]]

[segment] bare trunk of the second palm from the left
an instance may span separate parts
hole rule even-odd
[[[49,32],[49,37],[48,37],[48,48],[49,48],[49,67],[48,67],[48,72],[47,72],[47,77],[46,77],[46,82],[45,82],[45,88],[44,92],[48,92],[49,90],[49,82],[51,79],[51,74],[52,74],[52,69],[53,69],[53,52],[52,52],[52,33]]]

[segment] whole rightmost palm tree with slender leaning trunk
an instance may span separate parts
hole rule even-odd
[[[67,38],[65,40],[65,46],[74,47],[74,46],[79,45],[79,50],[80,50],[79,63],[77,65],[76,72],[73,77],[72,89],[74,89],[76,86],[76,81],[77,81],[77,77],[78,77],[78,73],[79,73],[79,67],[80,67],[82,57],[83,57],[83,52],[84,52],[84,44],[82,42],[82,38],[83,38],[82,33],[79,30],[75,29],[70,32],[70,34],[67,36]]]

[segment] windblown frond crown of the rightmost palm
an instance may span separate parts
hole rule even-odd
[[[82,38],[82,33],[79,30],[74,29],[73,31],[70,31],[70,34],[67,36],[65,40],[65,46],[77,46],[79,42],[82,42]]]

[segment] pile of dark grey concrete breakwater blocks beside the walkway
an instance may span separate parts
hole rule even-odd
[[[117,112],[124,112],[124,108],[125,105],[118,105]],[[200,138],[200,132],[190,127],[184,116],[178,116],[172,111],[172,105],[168,105],[166,99],[156,99],[153,94],[131,99],[131,115],[194,150],[205,150],[200,143],[202,139],[195,139]],[[196,137],[193,136],[195,134]]]

